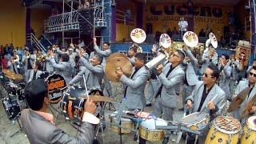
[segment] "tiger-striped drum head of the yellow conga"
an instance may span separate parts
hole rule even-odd
[[[237,134],[242,126],[240,122],[230,116],[218,116],[214,119],[214,128],[225,134]]]

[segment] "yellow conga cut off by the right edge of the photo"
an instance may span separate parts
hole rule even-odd
[[[251,116],[246,120],[240,141],[241,143],[256,142],[256,116]]]

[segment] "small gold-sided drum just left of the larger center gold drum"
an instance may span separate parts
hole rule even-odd
[[[114,113],[110,114],[110,122],[111,122],[111,123],[115,123],[117,114],[118,114],[118,111],[114,111]],[[126,127],[126,128],[129,128],[129,129],[131,129],[131,130],[134,129],[134,123],[131,122],[131,120],[128,119],[128,118],[121,118],[121,126]],[[111,126],[111,129],[112,129],[114,132],[117,132],[117,133],[118,133],[118,131],[119,131],[118,126]],[[129,134],[129,133],[130,133],[130,130],[121,129],[121,134]]]

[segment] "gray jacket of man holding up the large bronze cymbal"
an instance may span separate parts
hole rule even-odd
[[[133,67],[132,74],[134,74],[135,67]],[[142,66],[133,78],[127,78],[125,74],[119,79],[120,82],[127,86],[126,90],[126,106],[130,109],[142,109],[146,106],[146,98],[144,94],[146,81],[149,78],[149,73],[145,66]]]

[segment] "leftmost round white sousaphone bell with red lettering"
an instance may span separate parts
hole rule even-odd
[[[142,43],[146,40],[146,33],[144,30],[136,28],[130,32],[130,38],[136,43]]]

